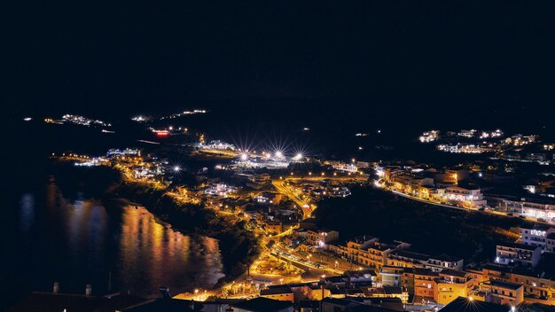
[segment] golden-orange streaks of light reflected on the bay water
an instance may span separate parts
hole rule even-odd
[[[140,272],[149,285],[209,288],[223,277],[217,240],[186,236],[145,207],[123,208],[120,250],[124,280],[137,280]]]

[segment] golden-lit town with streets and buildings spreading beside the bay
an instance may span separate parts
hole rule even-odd
[[[532,170],[529,179],[523,179],[524,171],[519,170],[520,176],[515,176],[512,161],[499,168],[499,154],[450,168],[435,167],[431,162],[324,160],[294,150],[269,147],[256,151],[221,139],[207,141],[198,131],[192,135],[192,131],[171,126],[160,127],[166,131],[160,136],[160,130],[152,130],[151,121],[143,122],[155,137],[152,140],[157,140],[152,142],[155,149],[113,148],[103,155],[52,153],[51,160],[75,168],[113,168],[124,183],[157,190],[181,207],[210,209],[224,222],[243,224],[243,230],[256,237],[257,252],[246,272],[216,288],[172,293],[177,305],[238,310],[262,304],[285,310],[369,306],[383,311],[432,311],[460,304],[461,298],[513,309],[555,305],[555,277],[538,269],[545,269],[550,254],[555,254],[555,202],[550,200],[555,175],[515,186],[517,181],[533,181],[538,175]],[[457,136],[477,133],[464,130]],[[484,134],[499,139],[503,132]],[[174,136],[188,143],[177,144],[174,152],[161,147],[166,141],[174,142]],[[437,130],[423,136],[420,142],[442,140]],[[545,147],[551,144],[543,144],[538,136],[527,137],[534,137],[527,144],[543,149],[542,161],[551,168],[551,149]],[[504,142],[504,150],[497,152],[524,144]],[[159,155],[156,150],[164,152]],[[172,160],[175,152],[180,161]],[[187,164],[200,159],[207,167],[192,171]],[[194,183],[185,183],[184,175],[192,175]],[[342,225],[318,225],[314,216],[321,202],[348,199],[353,196],[352,188],[391,193],[434,209],[517,218],[522,223],[507,234],[509,241],[492,245],[495,249],[487,252],[493,256],[472,262],[456,254],[427,253],[403,238],[380,238],[372,235],[371,228],[349,237],[342,234]],[[515,196],[515,188],[523,195]],[[170,296],[167,288],[160,292]],[[145,307],[160,304],[148,302]]]

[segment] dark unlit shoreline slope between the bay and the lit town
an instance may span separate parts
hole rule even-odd
[[[66,167],[70,162],[57,158],[53,164]],[[98,171],[100,168],[107,169],[106,177]],[[75,170],[73,167],[70,169],[72,172]],[[93,186],[97,195],[94,197],[106,207],[113,205],[145,207],[155,216],[157,222],[168,224],[173,230],[184,235],[200,235],[217,239],[224,277],[218,280],[213,290],[243,275],[258,257],[260,244],[254,237],[254,233],[245,229],[245,222],[231,224],[214,210],[205,208],[202,203],[199,205],[178,203],[168,196],[167,188],[155,188],[149,183],[130,181],[117,168],[103,166],[92,170],[96,172],[87,171],[87,175],[93,175],[96,183],[101,185]],[[112,181],[98,181],[100,179]]]

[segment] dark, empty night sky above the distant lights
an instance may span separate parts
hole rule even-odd
[[[0,97],[17,110],[356,98],[451,112],[555,101],[553,1],[15,3],[2,10]]]

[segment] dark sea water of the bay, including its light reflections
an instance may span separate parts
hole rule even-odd
[[[223,277],[218,241],[186,236],[158,222],[144,207],[98,200],[102,175],[63,168],[51,152],[102,154],[132,146],[133,136],[99,129],[14,122],[4,141],[0,280],[3,292],[130,292],[158,296],[210,288]],[[131,139],[131,143],[129,142]],[[97,169],[89,169],[97,170]],[[100,185],[100,186],[99,186]],[[6,298],[7,299],[7,298]]]

